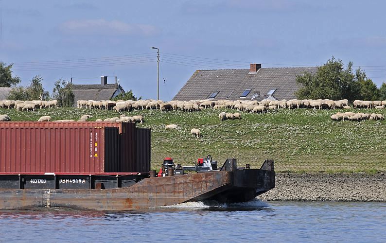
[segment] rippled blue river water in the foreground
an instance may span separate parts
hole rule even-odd
[[[202,202],[144,211],[0,211],[0,242],[386,242],[386,203]]]

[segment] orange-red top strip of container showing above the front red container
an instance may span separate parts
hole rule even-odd
[[[135,127],[135,123],[108,121],[7,121],[0,122],[0,127],[118,127],[119,133],[124,133],[128,127]]]

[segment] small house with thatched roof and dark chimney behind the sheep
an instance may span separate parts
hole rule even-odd
[[[75,96],[75,106],[78,100],[111,100],[120,93],[124,93],[119,82],[107,84],[107,76],[101,76],[100,85],[72,85],[72,92]]]

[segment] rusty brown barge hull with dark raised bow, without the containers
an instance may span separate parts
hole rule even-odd
[[[119,211],[202,200],[246,202],[275,187],[275,172],[237,169],[133,181],[127,187],[107,189],[0,189],[0,209]]]

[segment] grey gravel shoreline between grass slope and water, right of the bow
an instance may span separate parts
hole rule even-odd
[[[277,173],[276,187],[264,201],[386,202],[385,173]]]

